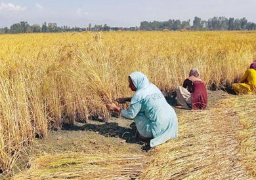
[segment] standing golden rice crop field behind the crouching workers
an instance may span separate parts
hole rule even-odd
[[[142,71],[165,94],[200,69],[208,88],[230,87],[256,55],[256,32],[106,32],[0,35],[0,169],[63,121],[108,118]]]

